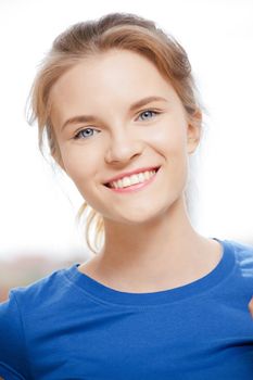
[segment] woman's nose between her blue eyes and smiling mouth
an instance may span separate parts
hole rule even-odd
[[[110,136],[109,148],[105,153],[107,164],[127,163],[135,156],[141,154],[143,143],[140,139],[129,136],[127,131],[115,132]]]

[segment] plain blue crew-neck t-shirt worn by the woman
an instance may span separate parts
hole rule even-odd
[[[121,292],[79,264],[12,289],[0,305],[0,376],[252,380],[253,246],[216,240],[217,266],[175,289]]]

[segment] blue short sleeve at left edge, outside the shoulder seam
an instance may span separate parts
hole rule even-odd
[[[26,343],[15,290],[0,304],[0,377],[27,380]]]

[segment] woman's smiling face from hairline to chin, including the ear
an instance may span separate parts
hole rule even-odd
[[[85,59],[54,84],[51,101],[60,164],[105,219],[143,223],[182,197],[199,126],[188,124],[174,88],[148,59],[115,49]],[[157,167],[138,189],[105,186],[115,176]]]

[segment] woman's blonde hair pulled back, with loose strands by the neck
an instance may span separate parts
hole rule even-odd
[[[58,163],[61,153],[50,119],[50,90],[61,75],[79,60],[112,48],[137,52],[154,63],[161,75],[173,85],[189,119],[195,123],[194,114],[200,110],[200,104],[191,65],[184,48],[150,20],[129,13],[106,14],[99,20],[77,23],[60,34],[42,61],[30,89],[31,113],[28,122],[33,124],[37,121],[39,149],[43,154],[46,137],[50,154]],[[86,241],[89,249],[97,253],[89,233],[93,223],[94,245],[99,246],[104,232],[103,217],[84,202],[77,213],[79,221],[87,211]]]

